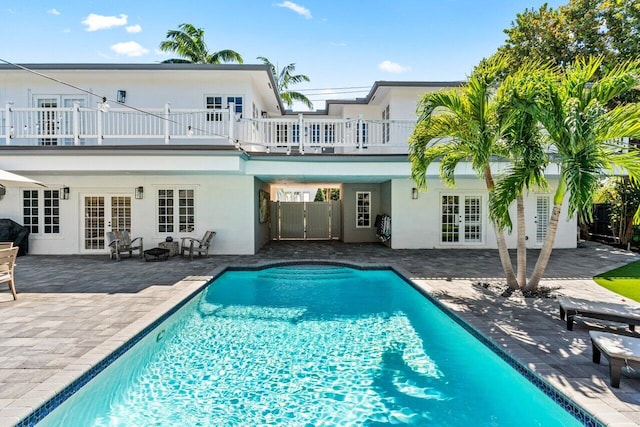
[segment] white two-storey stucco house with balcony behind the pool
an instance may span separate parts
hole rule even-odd
[[[459,82],[379,81],[301,114],[285,111],[265,65],[23,67],[0,66],[0,169],[47,187],[7,187],[0,218],[30,230],[32,254],[106,254],[105,233],[122,228],[146,248],[215,230],[212,254],[271,239],[375,242],[382,214],[394,249],[496,247],[468,165],[457,188],[437,167],[427,192],[409,178],[418,100]],[[341,200],[275,202],[287,186],[339,188]],[[551,194],[527,195],[529,247],[550,208]],[[575,246],[576,220],[562,218],[556,247]]]

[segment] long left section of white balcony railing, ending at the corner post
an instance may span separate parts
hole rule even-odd
[[[102,145],[169,144],[207,140],[229,144],[233,127],[225,110],[132,109],[126,107],[16,108],[0,110],[0,144]],[[202,143],[202,141],[200,142]]]

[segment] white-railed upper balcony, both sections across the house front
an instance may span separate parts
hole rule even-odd
[[[225,110],[130,107],[0,110],[0,145],[211,145],[247,152],[405,154],[412,120],[327,119],[317,115],[247,119]]]

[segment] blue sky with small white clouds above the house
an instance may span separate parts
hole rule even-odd
[[[504,40],[503,30],[543,0],[0,0],[0,58],[17,63],[153,63],[188,22],[210,51],[245,63],[296,64],[322,99],[364,96],[376,80],[463,80]],[[557,7],[566,1],[549,0]],[[351,88],[355,89],[333,89]],[[322,90],[313,90],[322,89]],[[360,90],[360,92],[356,92]]]

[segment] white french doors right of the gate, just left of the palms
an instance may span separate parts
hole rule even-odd
[[[482,197],[445,194],[440,198],[440,242],[482,243]]]

